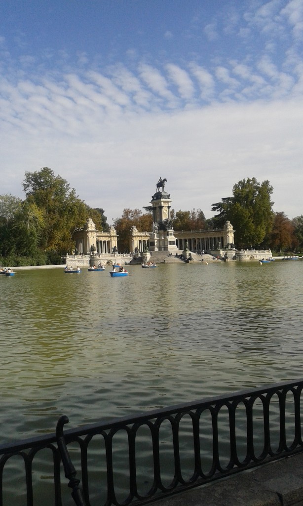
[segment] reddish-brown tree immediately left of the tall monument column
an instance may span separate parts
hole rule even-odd
[[[142,214],[140,209],[124,209],[121,218],[114,220],[114,227],[119,236],[119,250],[129,252],[131,229],[135,226],[139,232],[149,231],[153,223],[151,213]]]

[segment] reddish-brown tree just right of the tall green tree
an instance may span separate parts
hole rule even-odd
[[[298,244],[294,235],[294,226],[285,213],[275,213],[271,231],[270,245],[273,249],[293,248]]]

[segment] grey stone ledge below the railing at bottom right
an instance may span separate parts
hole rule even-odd
[[[159,501],[159,506],[303,506],[303,454]]]

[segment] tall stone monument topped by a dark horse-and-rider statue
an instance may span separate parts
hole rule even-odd
[[[156,185],[156,193],[151,196],[151,206],[145,207],[146,210],[151,210],[153,212],[153,226],[149,236],[149,250],[176,253],[178,247],[174,235],[173,222],[170,216],[171,198],[164,190],[165,183],[167,183],[167,179],[162,179],[160,177]]]

